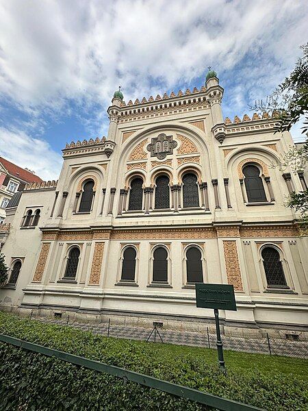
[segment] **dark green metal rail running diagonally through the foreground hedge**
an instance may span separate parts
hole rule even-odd
[[[71,364],[84,366],[87,369],[99,371],[100,373],[114,375],[116,377],[122,378],[125,383],[127,381],[136,382],[142,386],[155,388],[159,391],[163,391],[164,393],[175,395],[176,397],[196,401],[197,403],[210,406],[215,410],[262,411],[261,408],[249,406],[238,401],[218,397],[217,395],[209,393],[203,393],[202,391],[194,390],[194,388],[181,386],[179,384],[173,384],[172,382],[167,382],[162,379],[157,379],[149,375],[136,373],[134,371],[128,371],[118,366],[108,365],[103,362],[88,360],[84,357],[74,356],[73,354],[66,353],[64,351],[58,351],[56,349],[43,347],[42,345],[28,343],[27,341],[19,340],[18,338],[13,338],[11,336],[5,336],[3,334],[0,334],[0,342],[8,343],[35,353],[40,353],[44,356],[60,358],[60,360],[70,362]]]

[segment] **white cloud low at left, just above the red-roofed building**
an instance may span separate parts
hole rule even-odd
[[[57,179],[62,157],[55,153],[48,142],[28,136],[18,130],[0,128],[1,155],[7,160],[27,167],[42,179]]]

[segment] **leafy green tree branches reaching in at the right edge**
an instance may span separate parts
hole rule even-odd
[[[292,125],[304,118],[303,132],[306,141],[302,147],[290,146],[282,160],[272,166],[285,170],[288,167],[294,173],[303,171],[308,163],[308,43],[300,47],[303,56],[296,62],[295,68],[284,82],[280,84],[266,101],[259,100],[251,107],[261,114],[272,112],[277,116],[275,132],[289,131]],[[290,195],[287,206],[300,213],[300,225],[308,230],[308,190]]]

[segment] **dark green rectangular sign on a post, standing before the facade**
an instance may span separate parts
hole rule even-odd
[[[196,284],[196,306],[200,308],[213,308],[216,325],[216,345],[218,351],[218,364],[222,371],[224,366],[224,353],[220,336],[218,310],[236,311],[234,288],[229,284]]]

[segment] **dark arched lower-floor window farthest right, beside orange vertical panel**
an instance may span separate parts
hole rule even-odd
[[[274,247],[265,247],[261,251],[261,256],[268,287],[286,288],[287,282],[285,281],[285,273],[283,273],[283,265],[279,251],[274,249]]]

